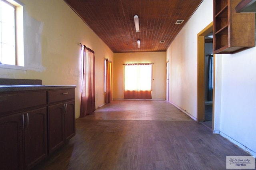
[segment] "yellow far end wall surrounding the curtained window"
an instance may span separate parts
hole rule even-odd
[[[165,99],[166,52],[114,53],[113,99],[124,99],[124,63],[154,63],[152,99]]]

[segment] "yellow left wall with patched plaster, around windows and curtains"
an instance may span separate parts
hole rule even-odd
[[[24,4],[24,54],[27,70],[0,68],[0,78],[42,79],[43,85],[76,85],[80,112],[80,45],[95,51],[96,108],[104,104],[104,59],[108,46],[63,0],[20,0]]]

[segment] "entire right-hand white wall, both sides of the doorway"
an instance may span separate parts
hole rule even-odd
[[[212,22],[212,9],[212,0],[204,0],[167,50],[169,100],[195,118],[197,34]],[[253,156],[256,156],[255,53],[253,47],[235,54],[215,55],[214,87],[214,132]]]

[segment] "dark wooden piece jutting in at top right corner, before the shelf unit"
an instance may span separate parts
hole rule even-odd
[[[236,12],[256,12],[256,0],[242,0],[236,6]]]

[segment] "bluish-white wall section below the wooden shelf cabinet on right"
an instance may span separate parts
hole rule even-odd
[[[256,156],[256,47],[222,55],[220,133]],[[242,146],[243,147],[243,146]]]

